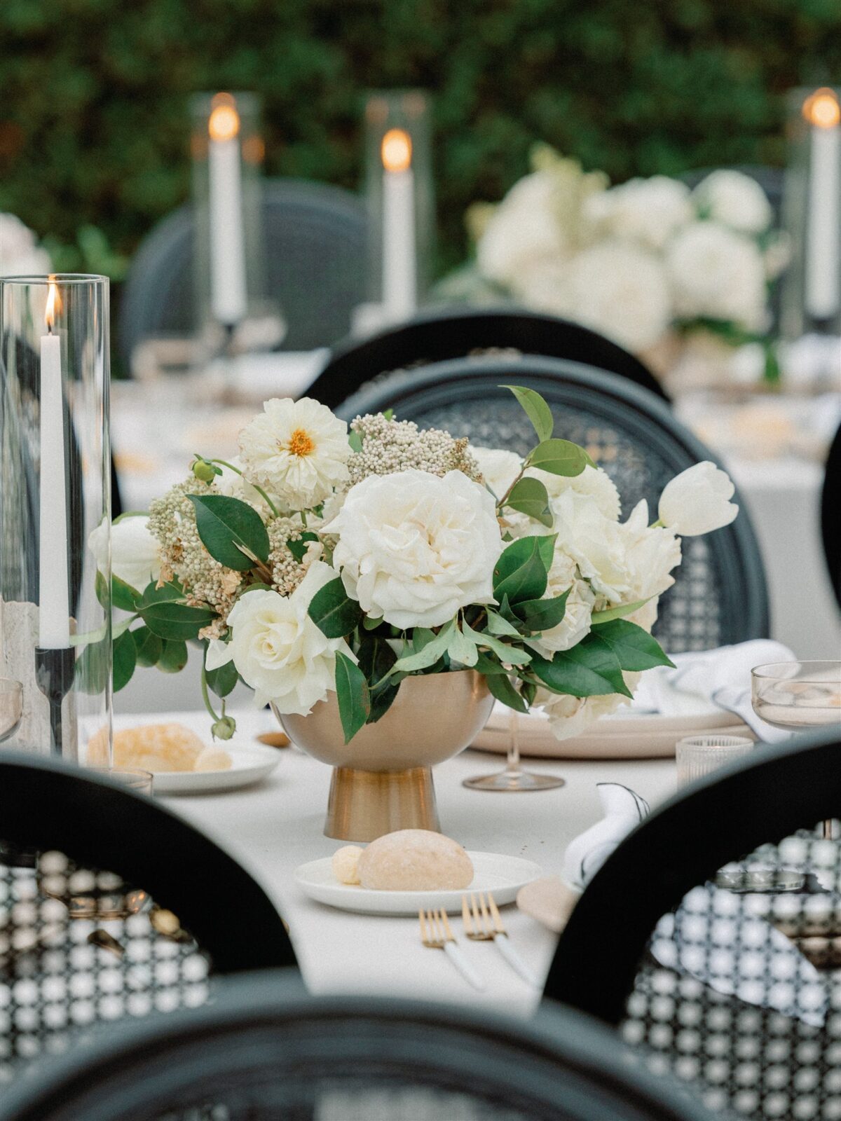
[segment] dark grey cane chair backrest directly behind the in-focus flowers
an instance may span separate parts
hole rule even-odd
[[[715,461],[654,393],[603,370],[533,354],[461,359],[390,374],[335,411],[351,420],[394,408],[401,420],[525,455],[534,446],[534,429],[500,388],[511,383],[543,393],[555,435],[586,447],[616,483],[626,515],[640,499],[656,510],[669,479],[702,460]],[[684,539],[683,563],[660,601],[655,634],[672,652],[767,637],[765,572],[743,506],[731,526]]]

